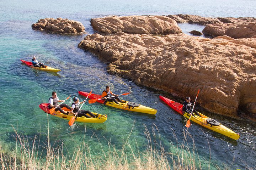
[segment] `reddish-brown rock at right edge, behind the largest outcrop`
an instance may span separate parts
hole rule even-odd
[[[256,22],[240,23],[215,23],[206,26],[203,31],[205,35],[213,37],[228,35],[232,38],[256,38]]]

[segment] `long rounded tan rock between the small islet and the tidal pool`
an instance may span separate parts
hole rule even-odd
[[[177,34],[182,33],[176,21],[165,16],[108,16],[92,18],[92,27],[99,33],[117,32],[132,34]]]

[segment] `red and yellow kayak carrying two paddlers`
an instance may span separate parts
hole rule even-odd
[[[48,103],[39,104],[39,108],[41,108],[44,112],[49,113]],[[63,107],[62,109],[65,112],[70,111],[70,109],[68,109],[66,107]],[[93,113],[93,114],[97,115],[97,113]],[[74,115],[71,113],[66,115],[66,114],[60,113],[59,111],[54,111],[54,113],[52,115],[55,117],[59,117],[59,118],[67,119],[67,120],[70,120],[72,117],[74,117]],[[90,116],[90,114],[87,114],[87,115]],[[83,122],[83,123],[103,123],[106,120],[107,120],[107,115],[102,115],[102,114],[98,114],[97,118],[76,117],[76,119],[75,119],[75,121]]]

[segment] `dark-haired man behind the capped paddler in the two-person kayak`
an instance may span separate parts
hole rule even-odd
[[[55,108],[55,111],[60,111],[63,114],[69,114],[68,112],[66,113],[62,108],[66,107],[68,109],[71,110],[71,107],[69,107],[67,104],[58,104],[58,102],[64,102],[65,100],[59,100],[59,98],[57,97],[57,93],[55,91],[52,92],[52,97],[49,98],[49,104],[48,107],[51,108]]]

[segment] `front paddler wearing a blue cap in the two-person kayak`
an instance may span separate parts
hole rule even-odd
[[[84,117],[86,117],[86,118],[97,118],[98,117],[98,114],[97,115],[94,115],[93,113],[91,113],[90,111],[84,111],[84,110],[80,110],[79,112],[78,112],[78,110],[79,110],[79,108],[80,108],[80,104],[82,104],[82,103],[84,103],[85,102],[85,100],[84,101],[82,101],[82,102],[79,102],[79,98],[78,97],[74,97],[73,98],[73,101],[74,101],[74,103],[72,103],[71,104],[71,111],[70,111],[70,113],[72,113],[72,114],[74,114],[74,115],[78,115],[78,117],[82,117],[82,116],[84,116]],[[86,113],[89,113],[90,115],[91,115],[91,117],[90,116],[88,116]]]

